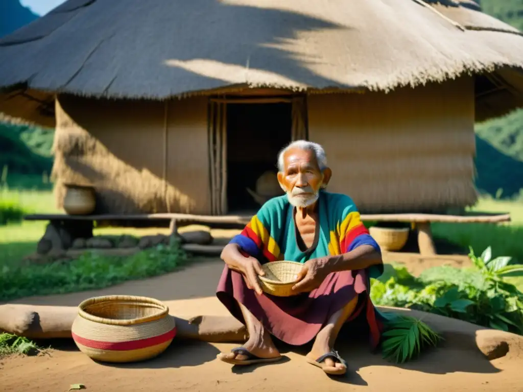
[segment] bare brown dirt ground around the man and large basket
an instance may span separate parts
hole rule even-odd
[[[411,257],[415,259],[415,255]],[[170,314],[179,317],[225,315],[226,309],[214,297],[222,268],[218,259],[198,259],[184,270],[153,279],[93,292],[22,298],[13,303],[77,306],[91,296],[130,294],[165,301]],[[90,360],[68,340],[49,355],[0,360],[0,391],[59,392],[77,383],[84,384],[88,391],[104,392],[523,391],[523,340],[461,321],[438,320],[439,328],[445,330],[446,341],[442,347],[401,366],[384,361],[380,354],[371,354],[367,340],[340,338],[336,349],[349,364],[349,372],[342,378],[329,378],[319,368],[306,363],[303,356],[306,348],[282,347],[287,357],[284,361],[242,368],[215,360],[220,351],[229,351],[234,344],[175,339],[166,352],[153,360],[113,365]],[[507,336],[516,339],[516,345],[511,345],[502,358],[488,361],[478,349],[479,341],[506,340]]]

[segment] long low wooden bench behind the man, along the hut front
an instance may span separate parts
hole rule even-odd
[[[252,215],[194,215],[178,213],[133,214],[133,215],[67,215],[67,214],[32,214],[26,215],[26,221],[49,221],[55,227],[73,232],[73,237],[89,237],[93,234],[93,223],[104,221],[144,221],[149,223],[169,222],[170,232],[177,233],[177,228],[192,224],[206,225],[211,228],[240,228],[251,221]],[[464,215],[438,214],[361,214],[362,221],[405,222],[414,225],[417,230],[419,252],[422,255],[436,255],[436,248],[430,229],[431,223],[502,223],[510,222],[510,214],[467,213]]]

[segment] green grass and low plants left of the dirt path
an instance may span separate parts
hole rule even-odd
[[[0,190],[0,195],[16,200],[28,212],[60,212],[49,191],[4,189]],[[24,260],[36,251],[47,223],[24,221],[0,226],[0,302],[30,295],[101,289],[174,271],[187,260],[176,244],[147,249],[128,257],[104,257],[86,252],[74,262],[35,264]],[[101,228],[95,229],[94,234],[140,236],[151,234],[151,229]]]

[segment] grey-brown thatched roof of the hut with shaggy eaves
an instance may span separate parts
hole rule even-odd
[[[523,106],[523,33],[472,0],[69,0],[1,39],[0,58],[0,110],[40,123],[33,91],[389,91],[469,73],[487,75],[477,119]]]

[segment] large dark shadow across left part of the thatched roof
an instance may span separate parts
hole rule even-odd
[[[0,54],[10,59],[9,69],[0,65],[2,84],[26,80],[78,94],[165,98],[237,84],[258,70],[302,85],[342,87],[309,69],[325,62],[311,50],[319,43],[305,49],[303,39],[294,42],[314,30],[350,29],[332,21],[217,0],[95,1],[68,9],[0,40]],[[198,59],[203,70],[173,66]]]

